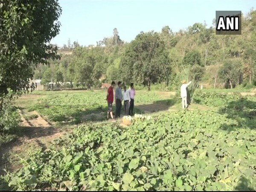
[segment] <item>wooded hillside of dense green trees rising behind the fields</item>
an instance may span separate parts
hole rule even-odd
[[[175,33],[169,26],[163,26],[161,32],[140,32],[130,43],[124,43],[115,28],[112,37],[96,46],[81,47],[74,42],[69,51],[61,49],[61,60],[52,61],[50,66],[52,78],[54,82],[73,81],[73,87],[99,87],[100,83],[113,80],[126,84],[133,81],[148,89],[154,83],[173,87],[181,66],[192,65],[196,81],[212,87],[254,84],[255,20],[256,11],[243,15],[242,35],[215,35],[214,27],[195,23]],[[48,71],[38,67],[35,78],[42,78],[44,73]]]

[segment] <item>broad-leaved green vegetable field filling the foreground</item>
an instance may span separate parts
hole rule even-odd
[[[15,190],[256,190],[256,99],[218,94],[195,96],[213,110],[78,126],[4,179]]]

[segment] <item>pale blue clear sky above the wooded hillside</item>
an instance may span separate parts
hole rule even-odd
[[[96,44],[113,35],[130,42],[141,32],[160,32],[168,25],[173,32],[194,23],[212,26],[215,11],[241,11],[256,8],[256,0],[59,0],[62,14],[60,33],[52,44],[78,41],[82,46]]]

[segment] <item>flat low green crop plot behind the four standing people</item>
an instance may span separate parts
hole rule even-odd
[[[105,100],[106,91],[76,91],[49,94],[28,111],[38,111],[44,118],[60,124],[79,124],[87,121],[102,121],[106,119],[108,105]],[[138,105],[165,99],[157,92],[137,91],[135,113],[143,113]],[[115,110],[115,105],[113,105]],[[122,110],[123,113],[123,110]]]

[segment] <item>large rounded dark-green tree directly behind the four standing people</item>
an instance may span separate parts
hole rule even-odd
[[[168,52],[156,32],[140,33],[128,45],[120,63],[122,79],[146,84],[168,81],[171,73]]]

